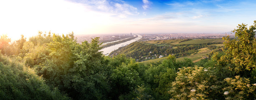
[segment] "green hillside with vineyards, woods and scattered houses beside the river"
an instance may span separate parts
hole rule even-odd
[[[174,55],[177,59],[187,57],[198,62],[210,54],[212,50],[223,47],[221,39],[187,39],[187,40],[152,40],[133,42],[126,47],[110,53],[110,56],[124,54],[136,59],[138,62],[158,62],[167,55]],[[160,56],[162,58],[160,58]]]

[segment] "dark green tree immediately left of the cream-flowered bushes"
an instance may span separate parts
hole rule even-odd
[[[145,70],[143,80],[147,87],[152,88],[154,92],[152,96],[158,98],[158,100],[169,99],[169,84],[175,81],[175,77],[177,76],[175,73],[180,66],[185,65],[184,67],[189,67],[188,65],[190,64],[187,63],[187,61],[177,62],[174,56],[169,55],[160,65],[150,65],[148,70]]]

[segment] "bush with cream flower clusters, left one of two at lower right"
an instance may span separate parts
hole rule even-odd
[[[174,100],[204,100],[218,93],[220,87],[212,68],[182,67],[169,91]]]

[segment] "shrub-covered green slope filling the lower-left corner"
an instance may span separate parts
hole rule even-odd
[[[20,58],[0,54],[0,98],[3,100],[68,100],[58,88],[46,85],[34,69],[25,67]]]

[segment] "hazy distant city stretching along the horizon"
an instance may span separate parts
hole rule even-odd
[[[122,40],[125,38],[133,37],[134,34],[112,34],[112,35],[75,35],[77,37],[77,42],[81,43],[86,41],[91,41],[91,38],[99,37],[99,41],[106,43],[116,40]],[[170,33],[170,34],[139,34],[142,35],[142,41],[147,40],[174,40],[174,39],[216,39],[222,38],[229,35],[231,38],[235,37],[235,34],[229,33]]]

